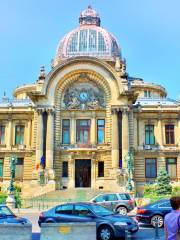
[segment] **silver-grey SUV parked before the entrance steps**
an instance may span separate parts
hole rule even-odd
[[[128,193],[99,194],[90,201],[101,204],[121,215],[127,215],[135,207],[135,201]]]

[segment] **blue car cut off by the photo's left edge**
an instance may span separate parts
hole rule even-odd
[[[18,223],[26,224],[30,221],[26,218],[17,217],[6,205],[0,205],[0,224]]]

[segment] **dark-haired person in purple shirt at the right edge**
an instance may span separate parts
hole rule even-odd
[[[170,198],[172,211],[164,219],[165,240],[180,240],[180,196]]]

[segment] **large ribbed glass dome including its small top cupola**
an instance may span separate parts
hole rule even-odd
[[[91,56],[111,61],[119,57],[120,48],[115,37],[100,27],[100,22],[98,13],[88,6],[79,17],[80,26],[60,41],[54,65],[77,56]]]

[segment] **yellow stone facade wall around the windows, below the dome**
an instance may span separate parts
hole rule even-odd
[[[105,93],[106,107],[94,110],[65,110],[62,108],[62,99],[65,91],[70,86],[81,81],[84,74],[89,82],[94,82]],[[81,77],[80,77],[81,76]],[[9,106],[0,107],[0,124],[5,124],[5,145],[0,146],[0,158],[4,159],[4,182],[9,181],[9,157],[15,154],[24,159],[23,182],[38,180],[39,170],[37,163],[43,154],[43,129],[42,114],[47,113],[47,136],[46,136],[46,168],[48,177],[55,180],[56,188],[63,186],[74,188],[74,162],[75,159],[90,159],[92,163],[92,187],[125,190],[127,180],[126,157],[130,149],[134,150],[134,181],[138,192],[143,191],[143,186],[154,179],[145,176],[145,159],[156,158],[157,169],[165,168],[166,158],[177,158],[177,178],[180,180],[180,107],[161,104],[133,106],[137,97],[128,90],[126,79],[121,78],[113,65],[99,60],[82,59],[69,60],[62,66],[59,65],[48,75],[44,82],[37,83],[33,89],[38,92],[32,94],[33,106]],[[144,87],[144,85],[143,85]],[[28,87],[27,88],[27,92]],[[135,88],[135,86],[134,86]],[[144,87],[145,88],[145,87]],[[144,91],[143,88],[143,91]],[[155,85],[154,85],[155,88]],[[149,88],[147,88],[149,89]],[[155,91],[155,90],[154,90]],[[159,92],[157,87],[157,92]],[[41,92],[41,94],[39,94]],[[163,89],[160,91],[163,92]],[[22,92],[18,98],[21,98]],[[24,96],[23,92],[23,96]],[[164,93],[165,94],[165,93]],[[20,101],[20,100],[19,100]],[[122,113],[122,169],[119,169],[119,145],[118,145],[118,112]],[[68,118],[71,122],[71,142],[69,146],[62,144],[62,120]],[[91,119],[91,145],[94,147],[72,147],[76,144],[76,120]],[[105,119],[105,142],[97,144],[96,120]],[[165,143],[165,124],[175,126],[175,143]],[[15,126],[25,126],[23,146],[15,146]],[[155,144],[147,148],[145,146],[145,125],[154,125]],[[131,138],[131,139],[129,139]],[[62,178],[62,162],[68,161],[68,179]],[[98,177],[98,162],[104,161],[104,177]],[[52,171],[54,171],[54,176]],[[50,172],[51,171],[51,176]],[[3,182],[1,182],[1,185]]]

